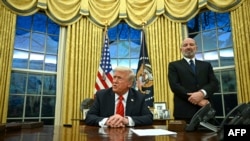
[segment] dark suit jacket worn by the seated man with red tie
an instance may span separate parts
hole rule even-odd
[[[89,109],[85,123],[87,125],[99,126],[103,118],[114,115],[115,93],[112,88],[100,90],[96,93],[93,105]],[[145,103],[145,95],[135,89],[130,89],[126,102],[126,116],[130,116],[135,126],[152,125],[153,114]]]

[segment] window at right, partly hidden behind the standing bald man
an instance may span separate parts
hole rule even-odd
[[[223,120],[237,106],[236,74],[229,13],[202,12],[187,23],[189,37],[196,40],[196,58],[212,64],[220,82],[213,101],[216,118]]]

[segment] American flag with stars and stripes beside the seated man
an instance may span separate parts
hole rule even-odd
[[[110,64],[109,39],[106,31],[104,46],[102,48],[102,58],[95,83],[95,93],[100,89],[106,89],[111,87],[112,81],[113,81],[113,72],[112,72],[112,65]]]

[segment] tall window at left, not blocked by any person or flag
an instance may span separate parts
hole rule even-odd
[[[44,13],[17,17],[7,122],[54,124],[59,29]]]

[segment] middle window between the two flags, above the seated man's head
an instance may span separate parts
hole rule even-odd
[[[141,30],[120,23],[108,30],[108,36],[112,68],[127,66],[136,73],[141,48]]]

